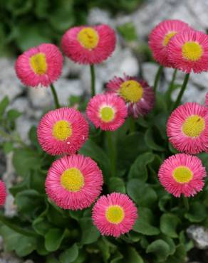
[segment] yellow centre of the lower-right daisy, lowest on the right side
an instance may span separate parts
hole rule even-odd
[[[172,172],[172,176],[177,183],[188,183],[192,180],[193,173],[186,166],[179,166]]]

